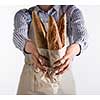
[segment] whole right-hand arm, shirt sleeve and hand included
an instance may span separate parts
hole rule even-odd
[[[78,8],[75,8],[70,15],[70,23],[73,40],[63,58],[55,62],[54,67],[55,71],[57,71],[56,74],[63,73],[70,66],[73,57],[80,55],[87,47],[87,31],[85,29],[82,13]]]

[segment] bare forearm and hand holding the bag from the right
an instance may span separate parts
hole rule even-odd
[[[75,55],[80,52],[79,44],[72,44],[66,50],[65,55],[58,61],[56,61],[53,65],[54,71],[52,74],[56,73],[56,75],[63,74],[68,67],[70,66],[72,59]]]

